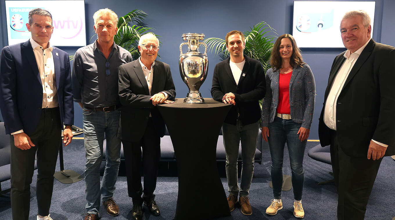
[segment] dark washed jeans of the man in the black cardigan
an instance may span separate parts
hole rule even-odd
[[[224,123],[222,135],[226,154],[226,177],[228,192],[241,197],[248,197],[252,175],[254,174],[254,156],[258,139],[259,122],[243,126],[240,120],[236,125]],[[241,183],[240,192],[237,179],[237,160],[239,159],[239,143],[241,141]]]

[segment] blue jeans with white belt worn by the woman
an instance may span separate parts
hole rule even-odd
[[[303,183],[303,156],[307,140],[300,141],[297,132],[301,124],[292,119],[275,117],[269,124],[269,148],[271,154],[271,177],[273,183],[273,195],[275,199],[281,199],[282,188],[282,162],[284,160],[284,145],[287,143],[290,154],[292,170],[293,196],[295,200],[302,200]]]

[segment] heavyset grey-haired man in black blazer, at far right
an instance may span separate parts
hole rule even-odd
[[[333,61],[319,121],[321,146],[331,145],[341,220],[364,219],[382,157],[395,154],[395,48],[374,42],[370,24],[361,10],[342,18],[347,51]]]

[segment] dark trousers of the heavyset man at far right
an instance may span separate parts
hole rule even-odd
[[[333,131],[331,136],[332,169],[339,196],[337,219],[363,220],[374,180],[383,158],[368,160],[367,157],[346,155],[341,149],[336,131]]]

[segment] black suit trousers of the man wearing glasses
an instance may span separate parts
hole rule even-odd
[[[160,160],[160,137],[156,134],[152,118],[149,118],[147,128],[140,141],[130,142],[122,140],[122,144],[128,181],[128,195],[132,198],[133,204],[141,204],[143,202],[141,199],[143,192],[143,199],[149,201],[154,196]],[[143,150],[142,161],[141,149]],[[144,190],[141,185],[141,165],[143,165]]]

